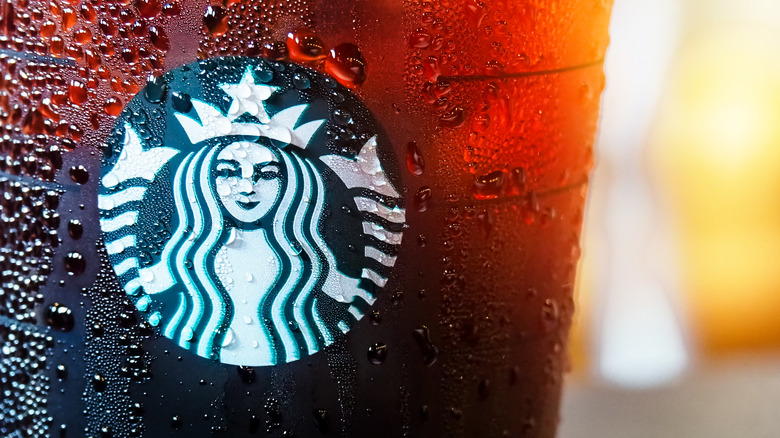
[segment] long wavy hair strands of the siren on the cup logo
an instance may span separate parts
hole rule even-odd
[[[290,362],[300,358],[301,349],[312,354],[333,342],[333,328],[319,316],[313,292],[321,290],[331,266],[335,268],[334,256],[320,233],[325,205],[320,172],[297,154],[263,146],[283,166],[282,190],[266,216],[270,220],[263,220],[268,241],[281,260],[282,274],[265,294],[257,317],[265,322],[261,327],[268,345],[274,346],[273,361]],[[229,295],[214,266],[217,251],[237,226],[225,216],[214,185],[213,162],[222,147],[192,152],[179,166],[173,197],[178,224],[164,250],[170,252],[167,260],[173,287],[184,290],[163,333],[180,346],[212,358],[218,357],[233,316]]]

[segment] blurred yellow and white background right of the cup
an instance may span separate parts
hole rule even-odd
[[[560,437],[780,437],[780,1],[610,34]]]

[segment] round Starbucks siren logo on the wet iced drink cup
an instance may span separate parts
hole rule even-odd
[[[314,354],[395,264],[405,215],[389,146],[363,103],[314,70],[236,57],[171,71],[104,150],[109,260],[146,320],[199,356]]]

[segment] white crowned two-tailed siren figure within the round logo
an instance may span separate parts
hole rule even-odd
[[[387,281],[383,269],[395,262],[387,248],[401,238],[400,232],[364,221],[360,231],[379,242],[361,248],[373,265],[357,275],[339,270],[322,234],[333,187],[323,181],[322,167],[338,175],[345,190],[370,186],[378,196],[400,196],[381,171],[376,137],[357,159],[328,155],[315,161],[299,153],[324,123],[296,126],[307,105],[270,117],[263,101],[275,87],[255,84],[250,70],[239,84],[222,87],[234,96],[227,114],[196,99],[197,117],[175,114],[192,148],[145,149],[134,128],[125,125],[123,156],[102,178],[108,190],[99,197],[101,228],[114,239],[107,241],[109,256],[127,293],[137,297],[136,307],[143,311],[154,300],[174,303],[147,318],[165,337],[227,364],[291,362],[333,343],[362,317],[360,309],[374,303],[373,293]],[[247,114],[250,121],[241,118]],[[156,263],[141,266],[132,250],[115,244],[135,244],[137,212],[120,214],[124,210],[114,207],[142,201],[146,189],[120,190],[119,183],[155,181],[159,168],[179,154],[171,237]],[[127,164],[139,161],[154,164]],[[355,203],[383,224],[404,221],[401,208],[365,197]]]

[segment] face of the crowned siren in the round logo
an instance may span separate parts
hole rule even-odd
[[[228,215],[254,223],[273,208],[282,190],[282,164],[271,149],[239,141],[217,154],[216,190]]]

